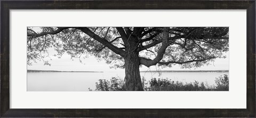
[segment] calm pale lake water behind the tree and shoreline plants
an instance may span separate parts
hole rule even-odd
[[[140,72],[141,77],[148,81],[151,78],[169,78],[184,83],[207,82],[215,85],[215,78],[228,72]],[[110,80],[111,77],[124,78],[124,72],[28,72],[27,91],[88,91],[95,89],[99,79]]]

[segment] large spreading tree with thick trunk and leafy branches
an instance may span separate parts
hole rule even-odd
[[[41,59],[47,49],[59,58],[83,54],[105,59],[111,67],[125,68],[125,89],[143,90],[139,67],[153,65],[196,68],[228,51],[228,27],[42,27],[27,28],[27,62]]]

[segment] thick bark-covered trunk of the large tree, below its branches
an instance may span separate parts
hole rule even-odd
[[[125,66],[125,89],[127,91],[142,91],[142,82],[140,78],[139,52],[127,51],[124,57]]]

